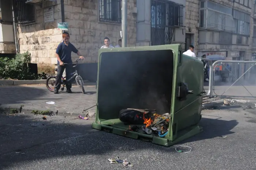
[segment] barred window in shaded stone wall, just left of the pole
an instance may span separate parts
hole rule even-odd
[[[121,23],[121,0],[99,0],[99,20]]]

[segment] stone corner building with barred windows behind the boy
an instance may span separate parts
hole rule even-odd
[[[62,40],[57,25],[61,22],[68,23],[70,41],[86,57],[85,63],[97,62],[104,37],[113,46],[121,38],[121,0],[0,2],[2,19],[9,22],[2,23],[0,32],[10,34],[3,36],[1,53],[28,50],[32,63],[56,64],[55,50]],[[128,0],[127,7],[128,46],[184,44],[185,0]]]

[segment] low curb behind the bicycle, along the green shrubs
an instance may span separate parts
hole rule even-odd
[[[46,80],[0,80],[0,86],[23,85],[23,84],[45,84]],[[84,86],[95,86],[96,83],[84,80]]]

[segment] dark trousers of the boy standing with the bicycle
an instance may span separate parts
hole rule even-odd
[[[66,80],[71,78],[71,73],[72,73],[72,64],[65,64],[63,66],[60,66],[60,64],[58,64],[58,71],[57,71],[57,76],[56,76],[56,81],[55,81],[55,88],[57,88],[58,90],[60,90],[60,86],[61,86],[61,77],[63,75],[64,69],[66,69]],[[72,84],[71,81],[66,81],[66,88],[71,89]]]

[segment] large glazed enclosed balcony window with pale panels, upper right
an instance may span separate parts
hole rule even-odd
[[[200,29],[234,31],[234,20],[231,8],[211,1],[207,1],[207,3],[204,4],[201,2],[200,7],[204,7],[200,8],[199,11]]]

